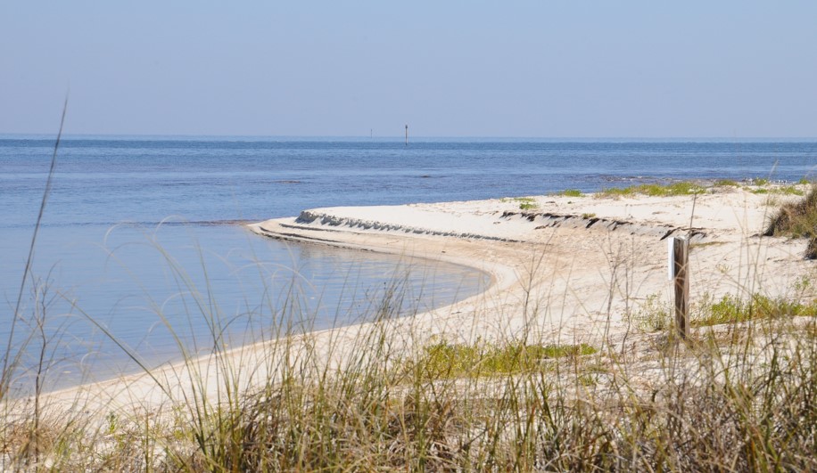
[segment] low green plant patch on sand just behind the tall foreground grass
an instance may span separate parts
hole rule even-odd
[[[450,344],[439,342],[424,348],[411,368],[424,379],[474,378],[541,370],[542,362],[565,356],[593,355],[596,348],[579,345]]]

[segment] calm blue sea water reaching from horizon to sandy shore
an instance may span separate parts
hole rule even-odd
[[[53,137],[0,136],[0,347],[7,345]],[[584,192],[666,179],[813,177],[817,143],[72,137],[57,158],[21,314],[43,314],[49,386],[270,336],[283,301],[309,330],[357,322],[397,286],[410,313],[487,283],[457,265],[283,244],[236,221],[304,208]],[[202,315],[204,314],[204,315]],[[213,322],[216,321],[216,322]],[[228,323],[227,323],[228,322]],[[172,330],[169,330],[171,327]],[[37,327],[15,326],[13,344]],[[247,336],[252,333],[252,337]],[[221,332],[217,333],[221,335]],[[177,340],[176,336],[180,341]],[[24,353],[24,371],[37,350]],[[22,381],[21,386],[27,385]]]

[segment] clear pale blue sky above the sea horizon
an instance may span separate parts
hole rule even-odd
[[[817,2],[0,5],[0,133],[817,136]]]

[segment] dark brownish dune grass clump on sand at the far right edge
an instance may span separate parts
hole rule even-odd
[[[783,204],[770,218],[763,235],[807,238],[805,257],[817,258],[817,185],[803,199]]]

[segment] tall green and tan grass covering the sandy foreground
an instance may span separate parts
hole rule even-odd
[[[719,303],[739,306],[731,299]],[[653,374],[645,387],[644,372],[631,370],[637,360],[586,344],[439,340],[401,355],[389,343],[392,316],[382,315],[358,335],[354,350],[336,369],[320,368],[309,340],[268,347],[273,362],[268,381],[240,396],[217,401],[201,385],[186,402],[161,412],[102,412],[102,420],[95,421],[51,412],[41,414],[36,426],[30,413],[6,413],[0,426],[2,466],[72,471],[817,467],[813,318],[778,314],[763,319],[769,324],[756,327],[751,342],[681,346],[657,352],[657,359],[649,355]],[[233,381],[224,381],[225,392]]]

